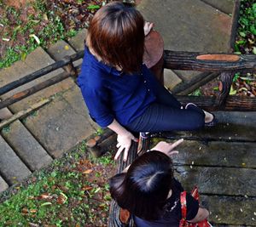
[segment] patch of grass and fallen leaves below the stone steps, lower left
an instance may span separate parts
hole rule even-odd
[[[106,226],[113,169],[110,153],[91,158],[82,143],[3,194],[0,226]]]

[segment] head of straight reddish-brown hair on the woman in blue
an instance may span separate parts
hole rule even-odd
[[[143,63],[144,20],[137,9],[108,3],[90,21],[86,45],[108,65],[125,72],[139,71]]]

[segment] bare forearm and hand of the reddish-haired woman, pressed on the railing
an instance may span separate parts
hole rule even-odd
[[[119,122],[117,122],[115,119],[113,119],[113,122],[110,125],[108,125],[108,128],[110,128],[111,130],[113,130],[113,132],[118,134],[118,138],[117,138],[118,144],[116,145],[116,147],[119,148],[119,150],[114,156],[114,159],[116,160],[121,154],[121,152],[125,149],[124,161],[126,161],[128,156],[128,151],[131,147],[131,140],[134,140],[135,142],[137,142],[138,139],[135,138],[134,135],[129,131],[127,131],[123,126],[121,126]]]

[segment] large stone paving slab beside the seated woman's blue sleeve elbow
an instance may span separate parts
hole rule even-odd
[[[51,156],[58,157],[96,132],[78,86],[59,94],[37,116],[27,117],[26,128]]]

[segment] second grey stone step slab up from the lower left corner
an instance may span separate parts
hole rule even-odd
[[[8,184],[15,184],[31,174],[2,136],[0,136],[0,174]]]

